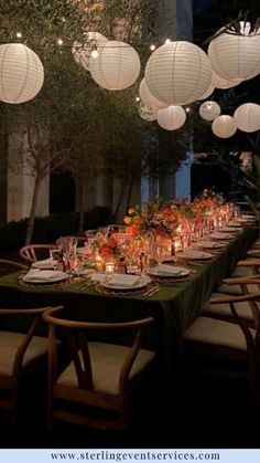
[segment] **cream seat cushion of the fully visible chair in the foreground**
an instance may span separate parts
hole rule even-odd
[[[130,348],[106,343],[89,343],[88,346],[93,365],[94,391],[118,396],[120,369]],[[153,351],[140,349],[132,365],[129,380],[132,381],[154,359],[154,357],[155,354]],[[58,386],[72,388],[78,387],[73,362],[65,368],[56,383]]]

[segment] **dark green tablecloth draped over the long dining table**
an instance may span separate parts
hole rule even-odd
[[[202,305],[229,275],[239,259],[246,255],[257,238],[257,230],[247,227],[214,256],[213,261],[193,266],[194,276],[181,287],[162,286],[151,297],[142,295],[111,296],[99,294],[90,286],[78,291],[77,283],[53,287],[24,287],[19,284],[19,273],[0,277],[1,306],[64,305],[79,319],[95,322],[124,322],[154,317],[145,338],[145,346],[156,351],[156,387],[162,387],[165,410],[174,413],[176,394],[185,396],[185,362],[183,360],[183,333],[198,315]],[[159,394],[156,394],[159,396]],[[180,396],[177,396],[180,397]]]

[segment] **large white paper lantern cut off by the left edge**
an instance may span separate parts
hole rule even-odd
[[[0,101],[19,104],[34,98],[43,86],[40,57],[22,43],[0,45]]]

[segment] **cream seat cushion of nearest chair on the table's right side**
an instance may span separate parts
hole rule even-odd
[[[253,338],[256,329],[249,328]],[[184,334],[185,341],[203,343],[246,351],[247,344],[240,327],[236,324],[209,317],[197,317]]]

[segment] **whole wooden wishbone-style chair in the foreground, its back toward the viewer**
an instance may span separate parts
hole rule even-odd
[[[130,413],[130,396],[155,354],[141,349],[143,329],[153,318],[129,323],[74,322],[58,317],[59,309],[43,314],[48,324],[48,425],[53,419],[97,429],[123,429]],[[72,362],[57,375],[56,329],[62,328]],[[131,347],[89,341],[93,332],[136,332]],[[64,408],[63,408],[64,407]],[[69,409],[71,407],[71,409]]]

